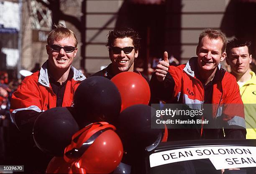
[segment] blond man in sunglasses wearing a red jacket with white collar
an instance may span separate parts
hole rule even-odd
[[[77,38],[72,30],[57,25],[49,33],[46,52],[48,60],[42,65],[41,70],[26,77],[13,93],[11,100],[10,111],[13,121],[25,136],[24,139],[32,139],[31,142],[33,124],[39,114],[53,107],[72,106],[74,92],[85,79],[82,73],[71,66],[77,54]],[[31,148],[29,153],[33,152]],[[31,162],[29,159],[28,161]],[[37,165],[40,165],[39,163],[41,162],[36,162]],[[33,165],[29,164],[26,166],[27,169]],[[47,165],[45,162],[42,164]]]

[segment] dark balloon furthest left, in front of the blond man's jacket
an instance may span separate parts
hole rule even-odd
[[[54,107],[42,112],[36,119],[33,138],[44,153],[62,156],[78,130],[78,124],[67,107]]]

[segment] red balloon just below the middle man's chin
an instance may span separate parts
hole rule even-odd
[[[150,88],[148,82],[135,72],[121,72],[111,81],[116,85],[121,94],[121,112],[134,104],[148,104]]]

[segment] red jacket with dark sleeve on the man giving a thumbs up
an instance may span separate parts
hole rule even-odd
[[[212,119],[215,120],[215,128],[231,128],[230,132],[235,130],[234,127],[243,129],[246,127],[243,102],[236,79],[221,68],[221,65],[217,68],[216,81],[212,86],[211,101]],[[178,67],[170,66],[168,74],[164,82],[158,82],[154,76],[151,78],[152,96],[167,103],[186,104],[191,109],[202,110],[205,91],[202,82],[196,77],[197,57],[191,58],[187,64]],[[210,131],[213,131],[213,129]],[[216,137],[218,138],[218,136]]]

